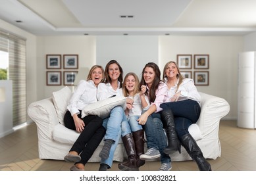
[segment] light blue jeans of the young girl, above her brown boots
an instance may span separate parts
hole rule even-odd
[[[128,121],[122,122],[122,137],[134,131],[142,129],[142,126],[137,121],[140,116],[130,116]]]

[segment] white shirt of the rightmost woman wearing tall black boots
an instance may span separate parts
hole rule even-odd
[[[170,87],[168,90],[168,98],[170,99],[175,93],[178,93],[179,91],[181,92],[180,98],[178,101],[182,99],[192,99],[193,101],[197,101],[200,103],[201,101],[201,96],[199,95],[197,88],[195,87],[195,84],[192,79],[185,78],[182,83],[180,83],[180,86],[177,89],[178,86],[178,81],[177,83]]]

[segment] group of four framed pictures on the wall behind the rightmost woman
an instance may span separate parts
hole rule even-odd
[[[195,85],[209,85],[209,55],[177,55],[177,64],[184,78]]]

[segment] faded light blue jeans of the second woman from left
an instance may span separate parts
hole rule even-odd
[[[116,106],[113,108],[109,118],[105,118],[103,120],[102,126],[106,129],[104,140],[112,139],[115,141],[115,143],[113,143],[111,146],[109,158],[106,160],[101,159],[101,164],[107,164],[110,168],[113,164],[114,153],[121,137],[121,124],[125,124],[125,122],[127,122],[127,120],[124,114],[124,110],[121,106]]]

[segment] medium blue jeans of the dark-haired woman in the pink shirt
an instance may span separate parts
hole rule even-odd
[[[151,114],[147,118],[147,122],[143,126],[143,129],[147,137],[147,148],[159,150],[161,154],[161,163],[169,163],[170,156],[163,152],[163,150],[167,147],[167,141],[160,114]]]

